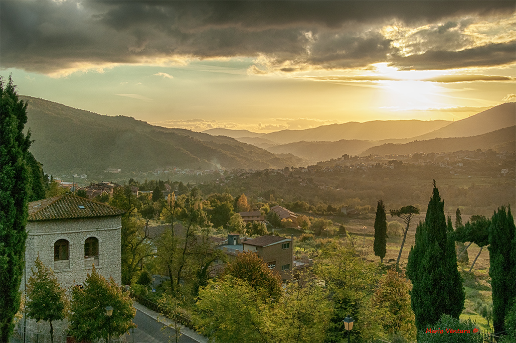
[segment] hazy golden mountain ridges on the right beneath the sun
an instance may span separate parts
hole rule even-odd
[[[512,136],[510,129],[500,131],[504,133],[502,136],[482,136],[514,125],[516,103],[510,102],[458,121],[375,120],[332,124],[306,130],[282,130],[261,135],[247,130],[229,129],[211,129],[204,132],[231,136],[240,142],[271,152],[292,153],[309,163],[317,163],[341,157],[343,154],[401,153],[399,151],[411,153],[420,151],[418,149],[422,149],[421,152],[446,152],[466,150],[469,146],[470,150],[504,147],[514,150],[514,144],[511,145],[514,141],[514,130]],[[243,136],[246,131],[252,135]],[[440,141],[435,139],[453,137],[470,138]]]

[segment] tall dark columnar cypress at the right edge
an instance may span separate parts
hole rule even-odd
[[[493,327],[504,332],[504,318],[516,297],[515,228],[510,207],[498,208],[489,227],[489,276],[493,297]]]

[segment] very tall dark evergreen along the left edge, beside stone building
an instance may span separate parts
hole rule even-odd
[[[12,319],[20,307],[20,282],[25,268],[27,201],[30,183],[26,158],[30,132],[23,133],[27,104],[16,87],[0,76],[0,341],[9,341]]]

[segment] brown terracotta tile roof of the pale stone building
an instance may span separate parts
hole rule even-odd
[[[122,215],[125,211],[102,202],[65,194],[29,202],[29,221]]]

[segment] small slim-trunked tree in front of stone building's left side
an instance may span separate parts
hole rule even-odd
[[[26,314],[36,321],[46,321],[50,324],[50,341],[54,343],[55,320],[63,320],[66,308],[69,305],[66,290],[61,288],[54,271],[47,268],[40,260],[39,255],[35,261],[36,270],[29,277],[27,284]]]

